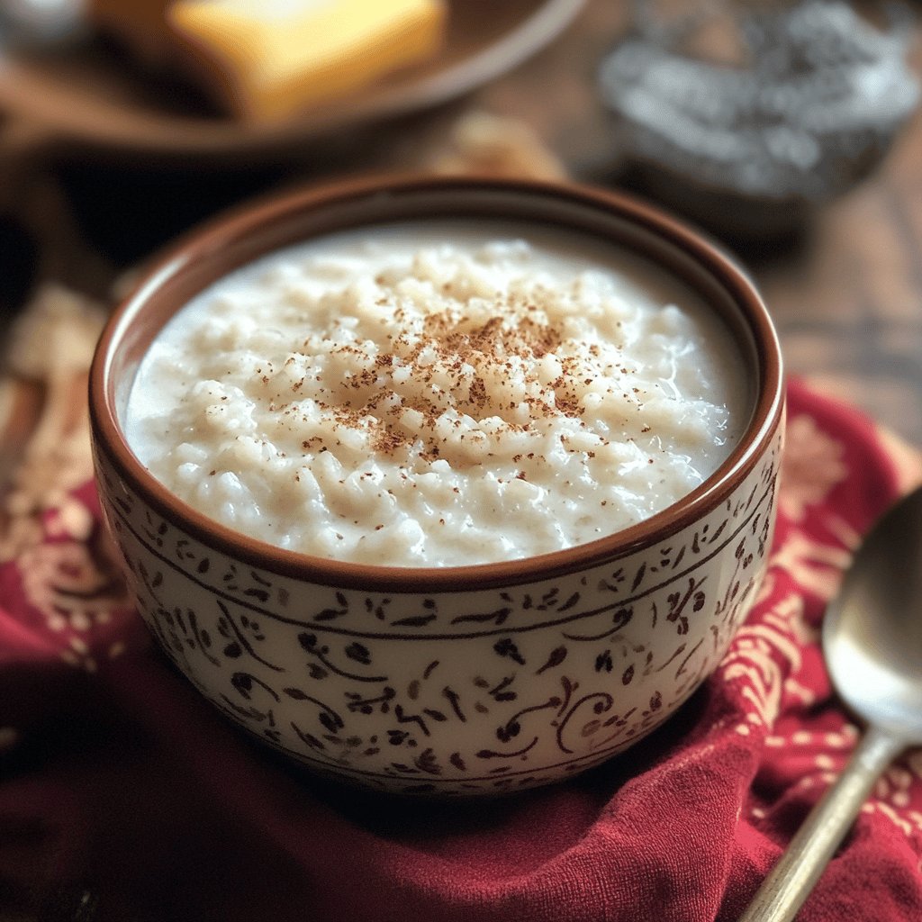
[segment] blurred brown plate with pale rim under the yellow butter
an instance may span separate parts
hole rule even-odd
[[[552,41],[583,0],[449,0],[445,47],[324,109],[277,124],[244,124],[139,73],[99,41],[0,50],[0,112],[43,128],[68,148],[182,158],[272,158],[386,118],[455,99]]]

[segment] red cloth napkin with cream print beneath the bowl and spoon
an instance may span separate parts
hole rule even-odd
[[[772,566],[714,677],[621,757],[486,802],[344,791],[258,748],[152,647],[90,485],[0,545],[0,918],[735,920],[852,750],[817,628],[899,491],[875,427],[790,386]],[[11,537],[11,535],[13,537]],[[922,919],[922,753],[802,922]]]

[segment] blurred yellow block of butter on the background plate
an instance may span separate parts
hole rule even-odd
[[[231,110],[271,120],[337,100],[443,41],[445,0],[178,0],[171,30]]]

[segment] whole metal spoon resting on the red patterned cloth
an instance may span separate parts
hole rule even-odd
[[[790,922],[874,782],[922,744],[922,487],[884,514],[857,550],[826,611],[822,648],[836,691],[868,728],[739,922]]]

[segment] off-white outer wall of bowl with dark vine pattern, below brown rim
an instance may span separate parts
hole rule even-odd
[[[713,671],[768,559],[779,436],[727,502],[584,572],[364,592],[234,560],[98,457],[137,606],[220,711],[326,774],[403,793],[516,790],[659,726]]]

